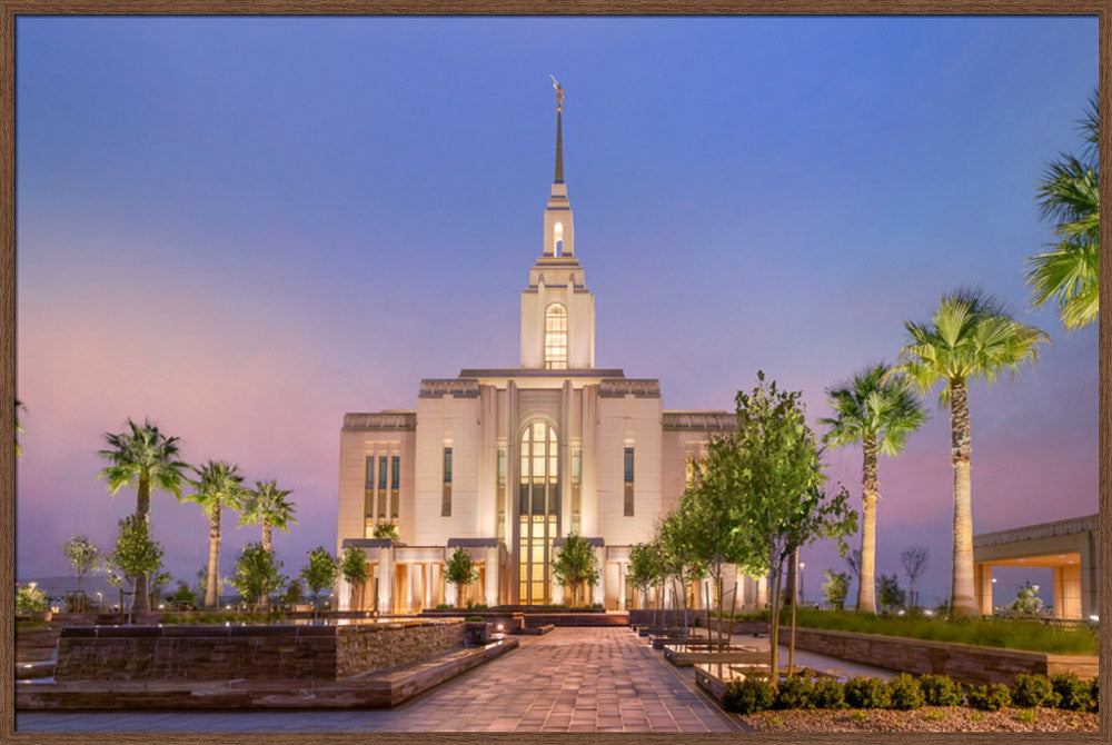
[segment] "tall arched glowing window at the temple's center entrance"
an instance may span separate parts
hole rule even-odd
[[[522,433],[518,489],[518,603],[548,603],[548,559],[559,519],[556,430],[539,419]]]

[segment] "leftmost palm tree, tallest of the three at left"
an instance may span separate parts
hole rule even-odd
[[[158,427],[143,419],[142,426],[128,419],[130,431],[119,435],[105,433],[109,447],[100,450],[101,458],[112,465],[101,470],[97,478],[108,479],[108,491],[116,495],[120,487],[136,487],[136,518],[150,525],[150,487],[170,491],[181,497],[182,473],[189,466],[178,460],[178,438],[166,437]],[[150,613],[148,577],[136,577],[132,613]]]

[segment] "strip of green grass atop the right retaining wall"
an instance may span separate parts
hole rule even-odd
[[[1098,654],[1096,630],[1089,626],[1049,626],[1037,620],[1015,618],[963,619],[962,623],[955,623],[917,613],[904,616],[876,616],[832,613],[815,608],[800,608],[797,618],[800,626],[810,628],[907,636],[935,642],[1054,654]]]

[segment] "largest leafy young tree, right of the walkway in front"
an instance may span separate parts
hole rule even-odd
[[[802,391],[784,391],[775,380],[757,372],[752,393],[738,391],[737,433],[728,441],[729,457],[715,466],[722,488],[738,495],[728,520],[746,557],[745,564],[771,573],[771,669],[778,674],[780,592],[784,562],[818,538],[835,538],[838,552],[844,536],[856,530],[857,514],[847,505],[848,493],[833,496],[823,489],[818,445],[806,424]],[[707,464],[709,469],[711,464]],[[794,648],[793,648],[794,652]]]

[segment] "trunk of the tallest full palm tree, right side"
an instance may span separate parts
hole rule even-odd
[[[973,596],[973,440],[964,378],[950,381],[950,453],[954,465],[954,556],[950,613],[977,616]]]

